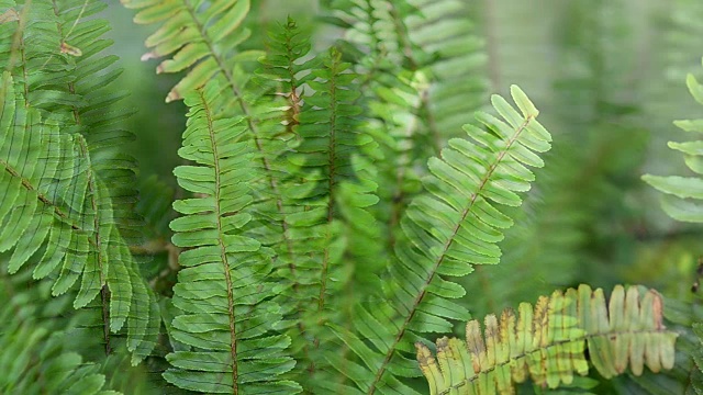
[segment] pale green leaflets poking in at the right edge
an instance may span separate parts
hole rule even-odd
[[[703,84],[692,75],[687,78],[687,86],[699,103],[703,104]],[[684,132],[703,133],[703,120],[685,120],[674,122]],[[685,165],[698,176],[643,176],[643,180],[666,193],[661,207],[672,218],[685,222],[703,223],[703,140],[669,142],[669,148],[683,153]]]

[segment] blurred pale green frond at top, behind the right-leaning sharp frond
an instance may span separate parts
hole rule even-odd
[[[386,244],[402,238],[399,219],[420,191],[417,169],[482,103],[482,43],[458,1],[333,0],[330,20],[346,27],[345,48],[364,75],[370,131],[383,148],[373,210]],[[348,55],[348,54],[347,54]],[[445,78],[446,76],[446,78]]]

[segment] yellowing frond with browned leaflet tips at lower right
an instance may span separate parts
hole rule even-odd
[[[606,303],[601,289],[580,285],[540,297],[534,311],[522,303],[517,314],[489,315],[483,334],[469,321],[466,342],[438,339],[436,358],[417,342],[417,361],[433,395],[513,394],[513,383],[527,377],[556,388],[588,373],[587,349],[605,379],[627,368],[640,375],[645,365],[657,373],[673,366],[678,336],[666,330],[662,309],[654,290],[617,285]]]

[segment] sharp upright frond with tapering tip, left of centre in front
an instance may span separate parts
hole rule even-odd
[[[272,334],[282,318],[270,300],[281,289],[270,282],[278,263],[242,230],[252,221],[253,143],[243,120],[214,111],[223,89],[211,81],[186,98],[191,110],[179,155],[194,165],[175,173],[196,196],[176,202],[183,216],[170,225],[174,244],[186,249],[172,300],[183,314],[170,334],[190,350],[167,356],[174,368],[164,377],[205,393],[297,393],[297,383],[279,377],[295,364],[283,354],[290,338]]]

